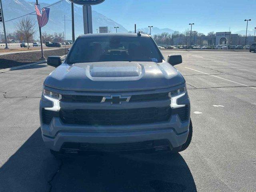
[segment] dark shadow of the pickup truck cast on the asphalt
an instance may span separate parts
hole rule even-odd
[[[1,192],[183,192],[197,191],[180,154],[82,156],[56,160],[41,130],[0,168]]]

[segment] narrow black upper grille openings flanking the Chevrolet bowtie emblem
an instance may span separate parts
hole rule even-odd
[[[65,102],[84,102],[84,103],[100,103],[103,96],[88,96],[88,95],[62,95],[61,101]],[[169,99],[168,93],[154,93],[132,95],[130,102],[145,102],[158,101]]]

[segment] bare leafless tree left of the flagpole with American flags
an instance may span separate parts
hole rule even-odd
[[[20,34],[24,35],[27,44],[31,38],[34,37],[35,31],[35,22],[31,18],[22,18],[18,23],[16,23],[16,29]],[[28,45],[29,48],[29,45]]]

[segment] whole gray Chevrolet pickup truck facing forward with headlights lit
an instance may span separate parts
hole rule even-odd
[[[55,156],[90,152],[180,152],[192,139],[183,76],[147,34],[79,36],[44,81],[40,123]]]

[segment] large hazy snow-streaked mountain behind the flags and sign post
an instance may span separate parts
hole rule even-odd
[[[31,1],[31,0],[30,0]],[[54,1],[55,2],[55,1]],[[6,31],[7,33],[13,32],[15,30],[15,23],[19,19],[12,21],[12,18],[16,18],[35,11],[34,2],[29,2],[28,0],[8,0],[3,2],[4,20],[6,21]],[[41,8],[49,6],[50,4],[40,3]],[[63,0],[50,8],[50,17],[48,24],[42,28],[42,32],[46,31],[48,33],[63,32],[64,31],[64,15],[66,15],[66,39],[71,39],[71,2],[69,0]],[[93,6],[92,6],[93,9]],[[36,21],[36,15],[30,14],[29,17]],[[26,17],[26,16],[25,16]],[[78,36],[84,33],[83,26],[83,13],[82,6],[74,5],[74,20],[75,20],[75,35]],[[115,32],[114,26],[119,26],[118,32],[128,32],[121,24],[118,24],[114,20],[107,18],[106,16],[92,10],[92,28],[93,32],[96,33],[96,29],[100,26],[108,26],[108,29]],[[0,25],[0,30],[2,31],[2,24]]]

